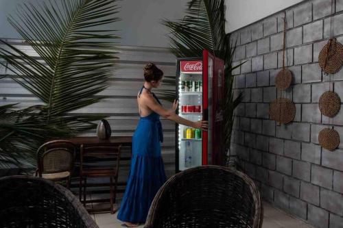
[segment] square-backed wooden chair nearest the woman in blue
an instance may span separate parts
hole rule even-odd
[[[110,178],[110,212],[117,193],[118,170],[121,144],[82,144],[80,148],[80,189],[79,197],[86,206],[86,184],[88,177]],[[103,160],[103,162],[97,162]],[[106,162],[105,162],[106,161]],[[111,163],[112,162],[112,163]]]

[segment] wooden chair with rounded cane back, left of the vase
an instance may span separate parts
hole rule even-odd
[[[51,181],[66,181],[70,188],[71,173],[75,160],[75,145],[67,140],[54,140],[46,142],[37,151],[37,164],[39,177]]]

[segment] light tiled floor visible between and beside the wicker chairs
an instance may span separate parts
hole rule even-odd
[[[312,228],[302,220],[294,218],[289,214],[276,209],[270,203],[263,202],[263,228]],[[116,214],[93,214],[92,215],[100,228],[119,228],[121,221],[117,220]],[[143,225],[139,226],[143,227]]]

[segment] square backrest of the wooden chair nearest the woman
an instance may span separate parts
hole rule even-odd
[[[111,168],[118,173],[121,144],[82,144],[80,147],[80,174],[85,168]]]

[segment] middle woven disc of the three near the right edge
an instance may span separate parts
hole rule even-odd
[[[320,96],[319,109],[324,116],[334,117],[340,111],[341,99],[337,93],[327,91]]]

